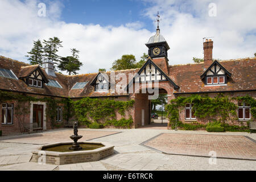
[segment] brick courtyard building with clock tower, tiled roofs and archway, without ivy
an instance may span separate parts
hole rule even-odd
[[[167,94],[168,101],[179,96],[198,94],[215,97],[224,96],[256,97],[256,57],[235,60],[213,60],[213,41],[205,39],[204,62],[196,64],[171,65],[168,59],[167,41],[160,34],[160,29],[146,43],[148,59],[140,69],[129,69],[114,72],[89,73],[67,76],[55,72],[53,63],[46,61],[40,65],[29,65],[6,57],[0,57],[0,91],[10,94],[10,100],[0,98],[0,130],[3,135],[20,133],[25,123],[37,123],[43,130],[53,129],[54,117],[58,127],[68,122],[64,117],[65,102],[62,100],[81,100],[85,97],[101,98],[116,101],[134,100],[134,105],[122,116],[116,118],[133,119],[133,128],[150,125],[152,90]],[[112,79],[114,76],[114,79]],[[121,79],[120,77],[125,78]],[[123,92],[118,92],[121,80]],[[149,84],[148,84],[149,83]],[[150,85],[150,86],[149,86]],[[0,94],[3,96],[3,94]],[[34,101],[22,101],[22,105],[13,97],[30,96]],[[53,113],[49,111],[49,100],[57,100]],[[255,121],[251,115],[251,106],[247,102],[237,101],[237,121],[235,123]],[[26,108],[23,113],[19,107]],[[192,109],[193,103],[185,105],[179,113],[181,122],[201,122]],[[69,118],[76,119],[76,118]]]

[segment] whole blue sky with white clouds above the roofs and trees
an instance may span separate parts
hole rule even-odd
[[[209,37],[214,59],[253,57],[255,9],[255,0],[0,0],[0,55],[28,63],[33,40],[57,36],[59,56],[79,49],[79,73],[109,70],[124,54],[147,53],[159,11],[170,65],[203,58]]]

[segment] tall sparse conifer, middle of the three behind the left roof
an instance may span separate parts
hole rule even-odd
[[[59,38],[49,38],[49,40],[44,40],[44,59],[53,61],[53,63],[57,64],[59,62],[60,56],[57,55],[61,45],[61,41]]]

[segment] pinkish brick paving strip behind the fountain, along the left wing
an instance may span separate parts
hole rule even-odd
[[[82,135],[82,138],[79,140],[85,141],[99,137],[105,137],[107,135],[116,134],[116,131],[84,131],[79,130],[79,135]],[[1,140],[1,142],[11,142],[11,143],[29,143],[29,144],[48,144],[48,143],[56,143],[56,142],[67,142],[72,140],[69,136],[73,135],[73,130],[68,131],[59,131],[54,133],[42,133],[42,134],[34,134],[27,137],[19,137],[13,139]]]

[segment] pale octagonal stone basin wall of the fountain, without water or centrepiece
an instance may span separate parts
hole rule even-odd
[[[38,151],[32,152],[30,162],[55,165],[75,164],[98,161],[114,154],[114,146],[106,142],[79,142],[81,146],[89,144],[99,147],[94,150],[69,152],[60,152],[59,150],[47,151],[47,149],[58,148],[59,146],[72,146],[72,144],[73,142],[62,142],[44,145]]]

